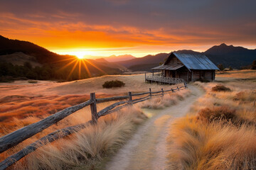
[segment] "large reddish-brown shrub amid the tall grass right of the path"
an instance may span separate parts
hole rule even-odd
[[[228,106],[203,108],[198,112],[198,118],[207,122],[212,122],[213,120],[231,120],[234,123],[237,120],[235,109]]]

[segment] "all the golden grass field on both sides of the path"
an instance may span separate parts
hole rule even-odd
[[[105,81],[114,79],[124,81],[125,86],[102,89]],[[215,82],[193,83],[203,88],[206,94],[194,104],[191,113],[170,126],[169,169],[255,169],[255,79],[255,71],[242,70],[217,74]],[[211,90],[220,84],[231,91]],[[86,101],[90,92],[96,92],[97,98],[101,98],[124,95],[127,91],[148,91],[149,87],[152,91],[175,88],[145,84],[143,74],[105,76],[64,83],[39,81],[38,84],[28,84],[27,81],[16,81],[1,84],[1,136]],[[161,109],[176,104],[190,94],[189,89],[166,94],[163,98],[152,98],[102,117],[97,125],[91,125],[28,154],[11,169],[103,169],[105,162],[129,139],[137,125],[146,120],[140,108]],[[111,103],[114,102],[98,104],[97,110]],[[90,119],[90,109],[83,108],[4,152],[0,158],[4,160],[50,132]]]

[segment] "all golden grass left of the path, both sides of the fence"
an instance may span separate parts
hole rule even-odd
[[[103,89],[105,81],[118,79],[124,81],[122,88]],[[171,89],[176,86],[146,84],[144,74],[129,76],[104,76],[80,81],[55,83],[39,81],[38,84],[29,84],[27,81],[16,81],[11,84],[1,84],[0,91],[0,121],[1,136],[36,123],[42,118],[57,111],[82,103],[89,99],[90,92],[96,92],[97,98],[118,96],[149,91],[159,91],[161,88]],[[111,154],[132,135],[139,123],[146,119],[140,108],[164,108],[173,105],[190,94],[188,89],[168,95],[164,98],[152,98],[150,101],[138,103],[129,109],[122,109],[100,118],[97,125],[81,130],[63,140],[58,140],[36,152],[28,154],[20,162],[12,166],[13,169],[101,169],[106,154]],[[109,106],[112,102],[100,103],[97,111]],[[50,132],[70,125],[85,123],[91,119],[90,107],[86,107],[50,126],[46,130],[21,142],[20,145],[0,154],[4,160],[21,148],[31,144]],[[54,160],[54,161],[53,161]],[[103,163],[102,163],[103,162]]]

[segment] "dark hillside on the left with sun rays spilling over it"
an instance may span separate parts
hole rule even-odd
[[[30,64],[23,67],[25,62]],[[0,66],[0,81],[9,81],[12,77],[75,80],[122,74],[126,70],[122,65],[106,60],[78,60],[75,56],[58,55],[31,42],[11,40],[1,35]]]

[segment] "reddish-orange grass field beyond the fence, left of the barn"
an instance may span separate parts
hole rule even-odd
[[[105,81],[113,79],[124,81],[125,86],[113,89],[102,88]],[[178,86],[181,85],[183,84]],[[45,115],[87,101],[91,92],[95,92],[97,98],[104,98],[127,95],[128,91],[132,93],[149,91],[149,87],[152,91],[174,88],[168,85],[146,84],[144,74],[104,76],[63,83],[38,81],[38,84],[29,84],[27,81],[16,81],[0,84],[0,122],[2,127],[14,128],[15,118],[24,119],[31,116],[44,118]],[[0,133],[3,132],[2,127]]]

